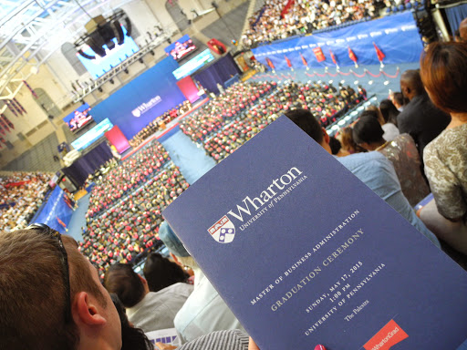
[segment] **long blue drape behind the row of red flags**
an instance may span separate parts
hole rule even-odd
[[[253,52],[254,57],[267,67],[290,70],[289,65],[296,69],[305,68],[305,64],[308,67],[336,67],[331,51],[339,67],[353,66],[349,48],[357,57],[358,65],[376,65],[379,59],[375,46],[385,56],[384,64],[418,62],[423,46],[412,14],[389,15],[326,33],[291,38],[254,48]],[[317,61],[314,53],[318,47],[326,58],[322,62]]]

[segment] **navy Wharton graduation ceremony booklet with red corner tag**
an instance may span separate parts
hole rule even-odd
[[[467,338],[467,273],[286,117],[163,216],[262,350]]]

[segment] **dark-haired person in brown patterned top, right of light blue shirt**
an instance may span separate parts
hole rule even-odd
[[[415,142],[409,134],[397,136],[391,142],[383,139],[383,129],[376,118],[361,117],[354,125],[353,135],[359,146],[378,150],[392,165],[400,181],[402,193],[414,207],[423,200],[430,189],[420,170],[420,156]]]

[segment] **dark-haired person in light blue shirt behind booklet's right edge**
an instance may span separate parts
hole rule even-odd
[[[327,152],[331,153],[326,129],[319,125],[317,119],[308,110],[291,110],[286,112],[285,116],[296,123],[312,139],[315,139]],[[381,199],[398,211],[413,227],[437,247],[440,247],[440,242],[436,236],[426,228],[410,207],[409,201],[407,201],[400,189],[400,182],[394,167],[382,154],[371,151],[337,158],[337,160],[378,194]]]

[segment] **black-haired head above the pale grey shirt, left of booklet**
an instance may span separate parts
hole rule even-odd
[[[144,278],[148,282],[150,292],[159,292],[175,283],[187,283],[190,275],[182,267],[164,258],[158,252],[151,252],[144,263]]]

